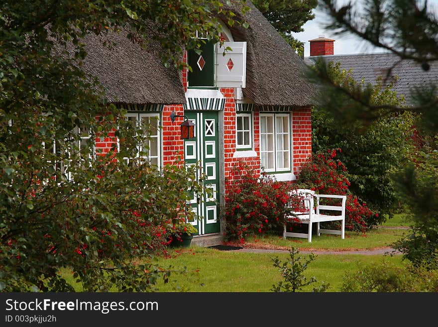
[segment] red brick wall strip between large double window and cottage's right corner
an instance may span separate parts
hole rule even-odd
[[[292,111],[292,144],[294,174],[299,177],[302,164],[312,155],[311,109]]]

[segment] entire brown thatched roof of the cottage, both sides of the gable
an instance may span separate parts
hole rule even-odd
[[[226,5],[226,1],[223,1]],[[277,33],[263,14],[247,1],[248,29],[230,27],[234,41],[247,42],[246,88],[243,94],[257,105],[304,107],[312,104],[315,87],[302,72],[303,60]],[[237,6],[228,7],[242,18]],[[146,24],[147,25],[147,24]],[[157,33],[153,23],[145,28]],[[111,49],[104,45],[115,42]],[[124,35],[109,32],[84,39],[88,55],[83,69],[96,76],[110,102],[125,104],[185,104],[181,72],[165,68],[159,59],[160,44],[150,41],[144,50]]]

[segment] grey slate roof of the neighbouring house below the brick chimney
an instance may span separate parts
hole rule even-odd
[[[364,53],[350,55],[321,56],[328,62],[340,62],[340,69],[352,70],[351,76],[358,82],[362,79],[366,84],[375,84],[379,76],[385,80],[389,69],[392,68],[385,85],[389,85],[395,76],[399,79],[394,83],[393,90],[397,95],[405,97],[406,105],[413,105],[411,90],[415,87],[423,87],[436,84],[438,81],[438,63],[430,63],[430,69],[424,71],[421,64],[413,60],[400,60],[392,52]],[[318,57],[307,57],[305,62],[313,64]]]

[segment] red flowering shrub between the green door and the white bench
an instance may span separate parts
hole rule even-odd
[[[225,235],[241,242],[249,234],[283,226],[290,183],[278,182],[273,177],[258,174],[239,162],[225,181]],[[293,199],[292,199],[293,201]]]

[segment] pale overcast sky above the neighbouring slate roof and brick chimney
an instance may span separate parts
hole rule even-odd
[[[346,0],[342,0],[345,2]],[[341,2],[342,2],[341,1]],[[354,1],[355,3],[360,3],[360,1]],[[429,0],[429,6],[436,6],[438,0]],[[309,20],[306,24],[303,25],[304,32],[293,33],[293,36],[304,42],[304,56],[309,57],[310,55],[310,43],[309,40],[316,39],[320,36],[325,36],[335,40],[334,45],[334,54],[353,54],[353,53],[370,53],[370,52],[383,52],[385,51],[382,48],[376,48],[372,46],[369,42],[363,41],[354,36],[335,36],[331,34],[329,31],[324,29],[324,23],[327,22],[327,18],[325,13],[319,10],[317,7],[314,9],[315,18],[313,20]]]

